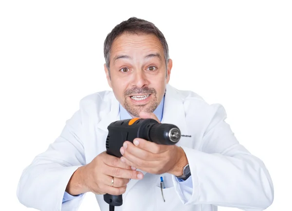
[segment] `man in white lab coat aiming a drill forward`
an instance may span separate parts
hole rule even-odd
[[[152,23],[123,21],[107,36],[104,55],[112,91],[84,97],[61,135],[23,171],[17,192],[23,205],[73,211],[87,192],[96,194],[101,211],[109,209],[105,193],[123,194],[116,207],[123,211],[262,211],[272,204],[270,175],[238,143],[223,106],[168,84],[172,60]],[[134,117],[175,124],[191,138],[171,146],[125,141],[123,157],[108,155],[108,125]]]

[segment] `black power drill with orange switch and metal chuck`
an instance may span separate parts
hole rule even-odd
[[[158,123],[153,119],[134,118],[110,123],[109,134],[106,141],[107,153],[121,158],[120,148],[125,141],[133,142],[135,138],[145,139],[157,144],[173,145],[181,139],[181,131],[174,124]],[[189,136],[190,137],[190,136]],[[122,195],[104,194],[104,200],[110,205],[110,211],[114,206],[123,204]]]

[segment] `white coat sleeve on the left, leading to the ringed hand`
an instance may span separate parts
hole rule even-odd
[[[78,110],[66,121],[60,136],[23,170],[17,189],[21,204],[41,211],[78,209],[85,194],[63,204],[62,200],[71,176],[77,168],[85,165],[81,131]]]

